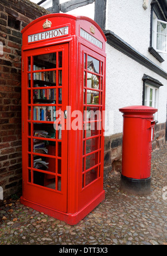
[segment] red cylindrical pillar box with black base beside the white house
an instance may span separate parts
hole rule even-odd
[[[155,108],[130,106],[123,113],[122,173],[120,190],[146,195],[151,186],[151,141],[154,138]]]

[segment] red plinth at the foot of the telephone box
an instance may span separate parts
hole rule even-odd
[[[23,196],[21,196],[20,201],[21,201],[21,204],[26,205],[37,211],[44,212],[45,214],[55,219],[65,221],[65,223],[69,225],[76,225],[82,219],[84,219],[87,214],[89,214],[92,210],[94,210],[95,207],[99,205],[100,202],[102,202],[104,199],[105,199],[105,191],[102,191],[98,196],[95,197],[94,200],[89,202],[89,204],[87,204],[85,207],[83,207],[80,211],[76,212],[75,214],[57,211],[55,209],[51,209],[46,206],[36,204],[35,202],[24,199]]]

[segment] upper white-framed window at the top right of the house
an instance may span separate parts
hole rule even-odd
[[[153,12],[152,46],[158,52],[167,53],[167,22],[159,20]]]

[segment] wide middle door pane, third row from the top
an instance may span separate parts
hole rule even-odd
[[[33,90],[33,103],[41,102],[41,100],[47,100],[47,102],[56,101],[56,89],[35,89]],[[54,102],[55,103],[55,102]]]

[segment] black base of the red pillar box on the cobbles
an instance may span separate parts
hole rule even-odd
[[[151,192],[151,177],[138,180],[121,175],[120,191],[139,196],[149,195]]]

